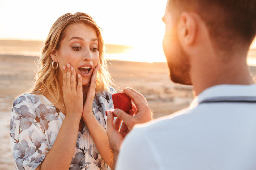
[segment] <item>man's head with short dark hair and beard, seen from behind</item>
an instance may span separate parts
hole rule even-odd
[[[189,85],[192,53],[200,54],[199,46],[209,43],[226,62],[237,51],[248,50],[256,34],[256,0],[169,0],[163,21],[171,80]]]

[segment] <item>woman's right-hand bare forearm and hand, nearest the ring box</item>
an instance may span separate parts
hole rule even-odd
[[[96,73],[98,66],[94,69],[91,78],[91,84],[87,93],[86,101],[83,107],[83,121],[86,124],[90,135],[96,145],[97,150],[104,159],[104,161],[112,167],[113,153],[109,145],[109,140],[105,128],[100,124],[92,112],[92,104],[95,96],[96,87]]]

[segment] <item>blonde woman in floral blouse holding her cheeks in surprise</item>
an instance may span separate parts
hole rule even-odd
[[[105,110],[115,93],[104,43],[85,13],[57,19],[35,84],[13,102],[10,139],[16,169],[109,169]]]

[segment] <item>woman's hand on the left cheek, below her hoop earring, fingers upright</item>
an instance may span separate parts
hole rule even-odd
[[[63,66],[63,99],[66,107],[66,117],[80,121],[83,112],[83,86],[82,77],[78,74],[76,83],[76,71],[70,65]]]

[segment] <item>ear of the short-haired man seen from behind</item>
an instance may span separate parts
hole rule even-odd
[[[178,24],[178,36],[180,43],[191,45],[196,39],[197,24],[192,13],[182,12]]]

